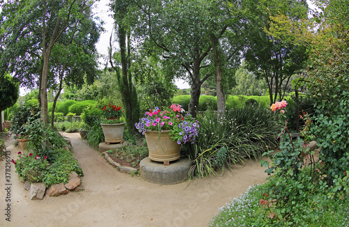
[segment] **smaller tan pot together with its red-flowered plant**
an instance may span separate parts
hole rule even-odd
[[[107,144],[110,143],[122,143],[124,141],[124,120],[121,119],[122,114],[121,107],[117,105],[109,104],[109,107],[102,108],[102,129]]]

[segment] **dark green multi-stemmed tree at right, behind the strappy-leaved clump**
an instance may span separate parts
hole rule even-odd
[[[306,48],[268,35],[270,15],[285,13],[291,19],[307,17],[308,7],[304,0],[244,1],[246,8],[247,69],[258,78],[264,78],[269,88],[270,102],[285,95],[285,87],[292,75],[304,68],[308,58]],[[274,95],[274,96],[273,96]]]

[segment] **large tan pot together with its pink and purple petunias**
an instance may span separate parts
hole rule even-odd
[[[145,135],[149,159],[169,164],[179,159],[181,144],[194,143],[198,136],[198,121],[190,114],[182,114],[179,104],[172,104],[163,110],[156,107],[147,111],[144,118],[135,124]]]

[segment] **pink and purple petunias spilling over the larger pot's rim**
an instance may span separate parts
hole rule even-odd
[[[183,114],[183,110],[179,104],[172,104],[163,110],[156,107],[145,112],[144,118],[140,118],[135,127],[142,134],[147,130],[158,132],[170,130],[172,140],[178,144],[194,143],[200,126],[198,120],[192,118],[190,114]]]

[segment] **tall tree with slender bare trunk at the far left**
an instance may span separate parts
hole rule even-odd
[[[6,46],[6,53],[1,53],[1,70],[8,67],[19,72],[21,59],[35,63],[34,68],[29,67],[27,71],[31,78],[40,75],[40,113],[46,124],[47,84],[54,45],[64,33],[75,29],[77,21],[90,13],[93,3],[94,0],[20,0],[3,4],[1,22],[7,31],[3,33],[2,43]],[[17,46],[20,43],[26,45]],[[15,54],[9,53],[12,48]],[[38,58],[40,61],[36,61]]]

